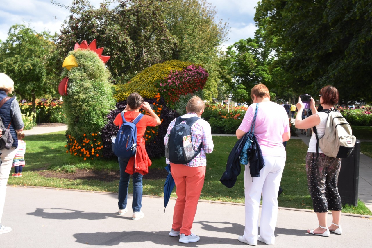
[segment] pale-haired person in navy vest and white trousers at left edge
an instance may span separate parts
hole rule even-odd
[[[4,73],[0,73],[0,101],[7,97],[8,93],[12,93],[14,90],[14,82],[10,77]],[[16,131],[22,131],[23,124],[21,111],[17,100],[10,98],[0,108],[0,116],[4,126],[9,126],[10,133],[14,139],[12,148],[1,149],[1,165],[0,165],[0,234],[12,231],[9,226],[1,224],[1,217],[3,216],[3,209],[5,203],[6,184],[8,182],[10,169],[12,168],[13,158],[16,154],[16,148],[18,146],[17,133]]]

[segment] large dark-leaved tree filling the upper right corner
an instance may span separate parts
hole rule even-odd
[[[298,91],[331,84],[344,102],[372,99],[372,2],[262,0],[255,21]]]

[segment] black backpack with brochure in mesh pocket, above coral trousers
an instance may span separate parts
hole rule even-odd
[[[200,153],[203,144],[201,143],[198,151],[195,151],[191,141],[191,126],[197,120],[199,120],[199,117],[177,117],[166,145],[166,158],[170,162],[187,164]],[[181,123],[183,121],[186,121],[186,123]]]

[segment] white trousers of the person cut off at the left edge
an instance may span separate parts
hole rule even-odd
[[[12,169],[13,158],[16,155],[16,148],[12,147],[8,149],[2,149],[1,165],[0,165],[0,224],[1,217],[3,216],[3,209],[5,203],[6,194],[6,184],[8,183],[8,178],[10,174],[10,169]]]

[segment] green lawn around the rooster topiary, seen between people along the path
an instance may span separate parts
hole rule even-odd
[[[219,182],[222,173],[225,171],[227,157],[237,139],[235,137],[213,137],[215,148],[212,154],[207,154],[207,168],[205,184],[202,190],[201,199],[217,200],[224,202],[244,203],[244,167],[237,178],[232,189],[228,189]],[[23,177],[10,177],[8,183],[15,185],[44,186],[68,189],[97,190],[97,191],[118,191],[118,181],[103,182],[98,180],[69,180],[60,178],[42,177],[37,171],[32,170],[53,170],[57,173],[73,173],[78,169],[92,170],[118,170],[116,160],[90,160],[83,161],[81,158],[71,156],[65,151],[64,132],[56,132],[45,135],[33,135],[25,138],[26,166]],[[312,209],[312,201],[308,194],[305,155],[307,146],[301,140],[290,140],[287,142],[287,160],[283,172],[281,187],[283,193],[278,198],[280,207],[294,207],[301,209]],[[152,160],[150,169],[165,166],[165,159]],[[151,173],[151,170],[150,170]],[[143,194],[163,196],[163,185],[165,178],[160,180],[148,180],[144,177]],[[129,187],[129,191],[132,188]],[[172,193],[172,196],[176,194]],[[358,207],[346,208],[347,213],[355,212],[372,215],[364,204]]]

